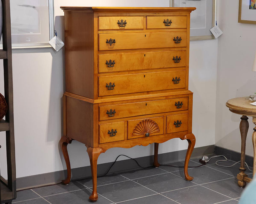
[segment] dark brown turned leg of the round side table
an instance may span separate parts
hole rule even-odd
[[[244,160],[245,160],[245,142],[246,136],[249,129],[248,117],[243,115],[241,117],[240,122],[240,134],[241,134],[241,166],[239,168],[240,173],[237,174],[238,186],[244,187],[246,185],[246,181],[244,181],[244,177],[247,177],[247,174],[244,173],[246,168],[244,168]]]

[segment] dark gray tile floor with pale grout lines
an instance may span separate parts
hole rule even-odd
[[[189,161],[188,173],[193,181],[184,179],[183,168],[160,166],[112,173],[98,178],[98,204],[237,204],[243,188],[237,186],[240,164],[220,167],[212,158],[204,166],[199,159]],[[233,161],[221,162],[229,166]],[[183,162],[171,165],[182,166]],[[251,168],[252,169],[252,168]],[[249,177],[252,172],[246,171]],[[92,192],[92,179],[70,182],[17,192],[17,204],[85,204]]]

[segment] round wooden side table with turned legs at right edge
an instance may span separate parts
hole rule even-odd
[[[229,99],[226,103],[226,106],[232,113],[240,114],[241,122],[240,122],[240,134],[241,134],[241,166],[239,168],[240,173],[237,174],[238,186],[244,187],[246,182],[250,182],[252,179],[247,177],[247,174],[244,173],[246,168],[244,168],[244,160],[245,160],[245,141],[249,128],[248,117],[252,116],[252,122],[256,126],[256,106],[253,106],[253,101],[245,99],[246,97],[241,98],[232,98]],[[253,144],[253,176],[256,170],[255,158],[256,158],[256,127],[253,128],[254,132],[252,133],[252,144]]]

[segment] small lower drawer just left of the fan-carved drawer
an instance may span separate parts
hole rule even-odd
[[[124,121],[100,124],[100,144],[124,140]]]

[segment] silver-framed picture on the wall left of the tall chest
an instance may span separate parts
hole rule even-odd
[[[12,48],[51,47],[53,0],[12,0],[10,7]]]

